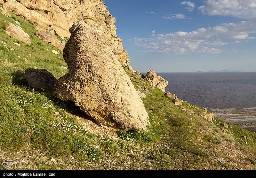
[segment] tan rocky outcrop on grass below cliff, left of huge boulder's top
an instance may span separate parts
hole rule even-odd
[[[41,40],[43,40],[46,43],[50,43],[53,46],[55,46],[56,48],[58,48],[59,50],[62,50],[65,48],[65,41],[60,42],[57,37],[55,36],[55,34],[51,31],[37,31],[36,32],[36,36],[38,38],[40,38]]]

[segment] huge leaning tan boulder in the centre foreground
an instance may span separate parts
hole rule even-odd
[[[148,113],[108,39],[84,21],[70,33],[63,51],[69,73],[56,82],[54,96],[73,101],[101,126],[147,130]]]

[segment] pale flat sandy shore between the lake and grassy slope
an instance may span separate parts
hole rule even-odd
[[[214,115],[246,130],[256,132],[256,107],[244,109],[213,109]]]

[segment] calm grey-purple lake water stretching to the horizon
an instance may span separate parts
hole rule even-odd
[[[209,109],[256,107],[256,73],[157,73],[165,91]],[[145,75],[145,74],[144,74]]]

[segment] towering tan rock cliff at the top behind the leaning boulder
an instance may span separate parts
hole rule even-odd
[[[0,0],[0,4],[41,30],[62,37],[69,37],[69,28],[84,19],[94,31],[107,37],[116,60],[122,65],[129,61],[122,39],[116,37],[116,19],[102,0]]]

